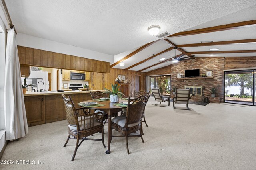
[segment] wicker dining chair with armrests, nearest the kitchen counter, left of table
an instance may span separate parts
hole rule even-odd
[[[67,98],[62,94],[62,98],[68,121],[68,139],[63,147],[66,147],[69,139],[76,139],[76,147],[71,161],[74,160],[76,151],[84,140],[102,141],[103,146],[106,148],[103,136],[103,114],[90,114],[90,109],[85,108],[76,109],[70,96]],[[98,132],[102,134],[102,139],[87,138]],[[79,143],[79,140],[82,141]]]

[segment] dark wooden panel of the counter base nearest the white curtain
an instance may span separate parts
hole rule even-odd
[[[44,124],[44,96],[24,96],[28,126]]]

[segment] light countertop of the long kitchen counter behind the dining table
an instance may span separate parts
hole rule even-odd
[[[90,93],[90,91],[101,91],[105,92],[106,90],[89,90],[89,91],[64,91],[64,92],[26,92],[24,96],[41,96],[41,95],[54,95],[54,94],[80,94],[80,93]]]

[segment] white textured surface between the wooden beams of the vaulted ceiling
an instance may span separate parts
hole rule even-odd
[[[256,19],[256,5],[251,6],[249,8],[246,8],[244,10],[240,10],[238,12],[229,14],[227,16],[218,18],[216,20],[203,23],[201,25],[198,25],[196,27],[190,28],[188,30],[194,30],[194,29],[200,29],[205,27],[212,27],[212,26],[218,26],[218,25],[224,25],[228,23],[236,23],[241,21],[248,21],[248,20],[255,20]],[[187,30],[186,30],[187,31]],[[188,35],[188,36],[181,36],[181,37],[169,37],[170,41],[175,43],[176,45],[180,44],[191,44],[191,43],[201,43],[201,41],[231,41],[231,40],[239,40],[239,39],[256,39],[256,26],[253,27],[245,27],[240,29],[232,29],[232,30],[226,30],[226,31],[217,31],[212,33],[202,33],[202,34],[196,34],[196,35]],[[154,53],[156,54],[159,50],[160,43],[164,47],[166,47],[166,43],[163,41],[159,41],[158,44],[155,43],[150,46],[150,48],[146,48],[143,51],[148,51],[148,53]],[[158,45],[158,47],[157,47]],[[170,47],[170,46],[169,46]],[[219,48],[220,51],[228,51],[228,50],[256,50],[256,43],[248,43],[248,44],[232,44],[232,45],[216,45],[216,46],[204,46],[204,47],[182,47],[182,49],[191,52],[191,51],[210,51],[210,48]],[[135,49],[134,49],[135,50]],[[127,63],[127,66],[120,67],[119,65],[115,66],[114,68],[127,68],[130,66],[130,63],[134,61],[133,64],[138,61],[138,58],[143,60],[146,55],[143,55],[143,51],[137,53],[137,55],[134,55],[130,57],[128,60],[125,60],[124,63]],[[132,52],[129,51],[129,52]],[[177,51],[178,52],[178,51]],[[144,52],[145,53],[145,52]],[[121,53],[118,56],[114,56],[114,61],[117,61],[127,55],[129,53]],[[180,54],[180,52],[177,53],[177,55]],[[155,57],[145,63],[142,63],[136,67],[130,68],[130,70],[141,70],[142,68],[146,68],[148,66],[151,66],[153,64],[156,64],[159,62],[159,59],[162,57],[165,57],[166,59],[170,59],[168,56],[175,56],[174,50],[164,53],[158,57]],[[196,57],[243,57],[243,56],[256,56],[256,53],[225,53],[225,54],[195,54]],[[143,72],[148,72],[157,68],[162,68],[167,65],[173,64],[172,62],[166,62],[163,64],[159,64],[157,66],[153,66],[151,68],[148,68],[144,70]]]

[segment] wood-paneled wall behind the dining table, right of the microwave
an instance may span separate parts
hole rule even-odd
[[[125,71],[122,69],[110,68],[110,73],[97,73],[91,72],[91,81],[89,82],[90,88],[93,89],[104,89],[108,88],[111,89],[111,84],[115,84],[115,79],[117,78],[118,74],[125,75],[126,81],[130,83],[130,95],[133,94],[135,90],[135,75],[140,76],[140,89],[145,90],[145,76],[144,72],[135,72],[135,71]]]

